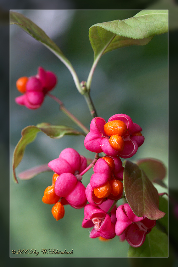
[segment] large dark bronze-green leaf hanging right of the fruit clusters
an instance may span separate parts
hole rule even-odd
[[[146,174],[131,161],[126,161],[123,175],[125,197],[138,217],[158,220],[165,213],[159,210],[159,195]]]

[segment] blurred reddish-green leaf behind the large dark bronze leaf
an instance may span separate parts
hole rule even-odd
[[[164,164],[157,159],[141,159],[136,161],[136,164],[146,173],[147,177],[154,183],[167,188],[162,182],[166,175],[166,168]]]

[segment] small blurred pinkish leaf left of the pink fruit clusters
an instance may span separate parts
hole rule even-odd
[[[39,165],[34,168],[28,169],[24,172],[20,172],[18,174],[18,177],[21,180],[29,180],[42,172],[49,172],[49,171],[52,171],[52,170],[47,166],[47,164],[43,164],[43,165]]]

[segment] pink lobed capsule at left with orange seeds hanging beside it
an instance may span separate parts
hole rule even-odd
[[[72,148],[61,151],[58,159],[50,161],[48,166],[59,175],[54,188],[55,193],[64,197],[68,204],[75,209],[86,205],[85,187],[80,182],[80,172],[86,169],[86,158]]]

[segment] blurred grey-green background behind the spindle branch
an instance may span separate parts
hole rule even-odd
[[[82,81],[87,79],[93,62],[93,51],[88,38],[89,27],[98,22],[132,17],[140,10],[16,11],[30,18],[56,42]],[[68,69],[46,47],[17,25],[11,25],[10,160],[21,137],[21,130],[28,125],[47,122],[79,129],[58,110],[58,104],[50,98],[46,97],[38,110],[28,110],[14,102],[14,98],[20,95],[15,87],[16,80],[21,76],[35,75],[38,66],[56,73],[58,85],[53,94],[62,100],[66,108],[86,127],[89,128],[90,125],[90,112],[82,95],[75,88]],[[161,160],[168,167],[167,34],[155,36],[146,46],[120,48],[104,55],[93,76],[91,96],[98,115],[106,121],[113,114],[125,113],[142,127],[145,142],[131,160],[152,157]],[[39,133],[36,140],[27,146],[17,174],[36,165],[48,163],[57,158],[66,147],[72,147],[80,154],[92,158],[94,153],[85,149],[83,141],[83,136],[65,136],[55,140]],[[83,176],[85,186],[92,173],[90,170]],[[39,251],[37,257],[46,258],[49,255],[42,255],[41,249],[55,248],[73,249],[74,257],[126,257],[129,246],[127,242],[121,243],[117,236],[109,242],[89,238],[88,229],[81,227],[83,209],[75,210],[65,206],[64,218],[55,221],[51,213],[52,206],[42,202],[44,189],[51,184],[52,175],[52,172],[43,173],[29,181],[19,180],[19,184],[15,184],[11,177],[10,252],[12,249],[36,249]],[[172,189],[175,188],[174,181],[169,181],[169,187]],[[165,183],[168,184],[167,177]],[[157,189],[159,192],[164,190],[160,187]],[[10,256],[19,257],[12,253]],[[22,256],[24,255],[20,255]],[[91,266],[93,260],[89,259],[88,266]],[[128,259],[125,258],[120,258],[119,262],[119,266],[129,265]]]

